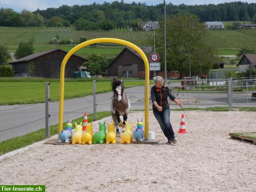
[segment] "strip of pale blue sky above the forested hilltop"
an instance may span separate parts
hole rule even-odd
[[[102,4],[105,0],[0,0],[0,7],[12,8],[16,12],[21,12],[22,9],[27,9],[29,11],[35,11],[36,9],[47,9],[49,7],[59,7],[61,5],[89,5],[93,2]],[[112,2],[113,0],[106,0],[107,2]],[[156,5],[162,3],[163,0],[124,0],[125,3],[146,3],[147,5]],[[166,3],[172,3],[175,5],[186,4],[186,5],[201,5],[201,4],[219,4],[225,2],[234,2],[236,0],[166,0]],[[241,2],[255,3],[256,0],[240,0]],[[120,0],[119,0],[120,2]]]

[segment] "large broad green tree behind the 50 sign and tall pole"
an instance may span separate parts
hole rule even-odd
[[[160,23],[163,26],[163,23]],[[217,62],[217,49],[209,41],[209,31],[195,15],[172,15],[166,20],[167,70],[189,71],[191,74],[207,73]],[[163,27],[156,31],[156,50],[160,54],[163,70]],[[189,54],[190,53],[190,54]]]

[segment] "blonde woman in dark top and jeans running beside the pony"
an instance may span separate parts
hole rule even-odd
[[[167,137],[167,144],[175,144],[175,139],[172,125],[170,123],[170,107],[167,98],[177,103],[180,107],[182,104],[175,99],[175,96],[169,90],[169,87],[164,84],[164,80],[161,76],[154,77],[154,87],[151,88],[151,100],[153,103],[153,113],[156,117],[163,134]]]

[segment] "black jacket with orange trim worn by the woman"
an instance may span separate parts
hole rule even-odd
[[[152,103],[157,102],[159,106],[165,109],[170,109],[169,103],[168,103],[168,96],[169,98],[173,101],[175,99],[175,96],[172,94],[171,90],[169,87],[161,87],[161,89],[157,88],[156,86],[151,87],[151,100]],[[157,108],[152,106],[153,111],[158,111]]]

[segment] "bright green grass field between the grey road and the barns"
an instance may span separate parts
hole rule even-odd
[[[144,85],[144,81],[127,81],[125,86]],[[92,81],[65,82],[64,99],[79,98],[93,94]],[[0,82],[0,105],[32,104],[45,102],[44,82]],[[111,81],[98,81],[97,93],[111,91]],[[59,82],[50,84],[51,102],[59,99]]]

